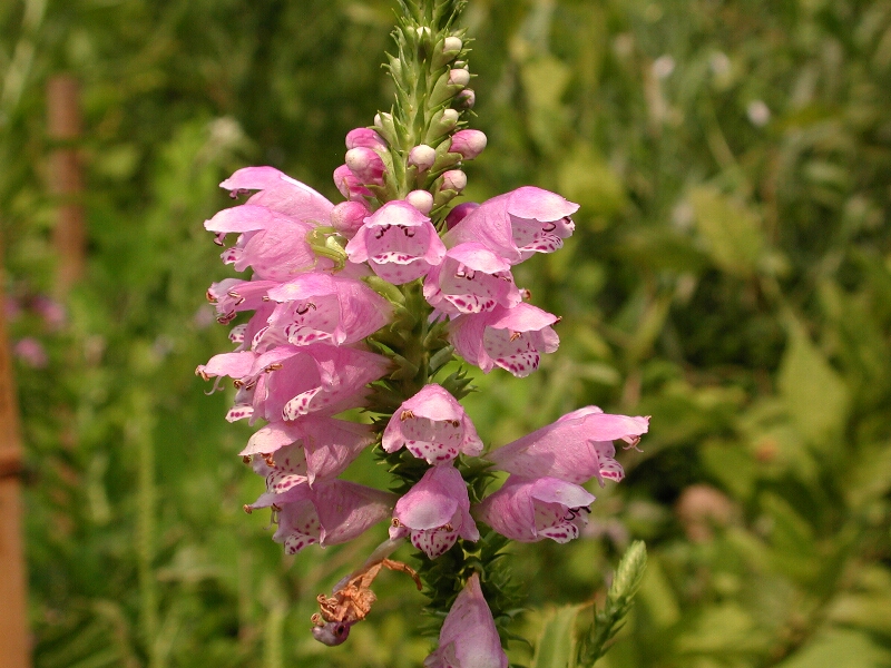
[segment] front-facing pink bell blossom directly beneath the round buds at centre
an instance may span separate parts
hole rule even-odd
[[[408,202],[388,202],[365,218],[346,244],[350,262],[368,261],[378,276],[395,285],[427,274],[446,256],[430,218]]]

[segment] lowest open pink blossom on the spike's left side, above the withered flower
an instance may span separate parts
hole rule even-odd
[[[330,480],[313,488],[296,484],[281,494],[265,493],[245,510],[274,505],[278,530],[272,538],[284,543],[286,554],[296,554],[315,542],[324,548],[356,538],[385,519],[394,500],[389,492]]]

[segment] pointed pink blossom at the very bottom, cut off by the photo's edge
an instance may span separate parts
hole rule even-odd
[[[439,647],[424,659],[424,668],[508,668],[508,657],[473,573],[454,599],[442,622]]]

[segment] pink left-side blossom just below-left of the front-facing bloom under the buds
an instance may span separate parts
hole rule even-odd
[[[302,274],[267,294],[277,302],[268,332],[294,345],[356,343],[392,315],[390,303],[361,281],[329,274]]]

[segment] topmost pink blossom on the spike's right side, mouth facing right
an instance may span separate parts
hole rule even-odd
[[[479,242],[511,264],[561,248],[578,205],[532,186],[483,202],[446,235],[449,246]]]

